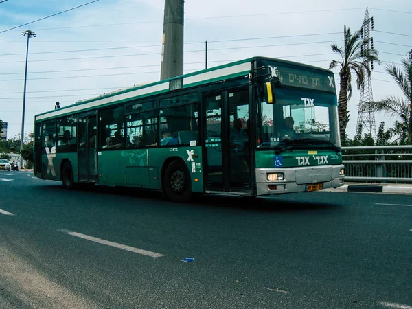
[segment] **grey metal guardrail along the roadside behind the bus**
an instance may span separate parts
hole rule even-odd
[[[412,183],[412,145],[342,147],[342,152],[347,182]]]

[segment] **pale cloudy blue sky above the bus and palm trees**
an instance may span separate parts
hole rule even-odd
[[[74,102],[160,78],[164,0],[100,0],[30,25],[5,31],[91,0],[8,0],[0,3],[0,119],[8,122],[8,137],[21,131],[27,39],[25,133],[34,115]],[[343,26],[361,27],[365,10],[374,17],[374,47],[382,65],[374,66],[375,100],[399,95],[385,71],[387,62],[400,63],[412,48],[412,1],[273,1],[186,0],[184,73],[251,56],[270,56],[328,68],[330,45],[343,45]],[[397,12],[395,12],[397,11]],[[339,87],[338,70],[334,70]],[[360,92],[349,102],[349,137],[353,137]],[[393,119],[376,115],[376,126]]]

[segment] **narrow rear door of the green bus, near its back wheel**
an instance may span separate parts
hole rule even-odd
[[[96,115],[80,116],[78,120],[78,174],[79,181],[98,181]]]

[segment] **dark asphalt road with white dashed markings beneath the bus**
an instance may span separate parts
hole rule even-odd
[[[411,243],[406,195],[178,204],[0,172],[1,309],[411,309]]]

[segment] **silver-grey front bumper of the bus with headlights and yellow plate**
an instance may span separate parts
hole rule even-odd
[[[341,187],[345,177],[341,174],[343,168],[343,164],[306,168],[257,168],[256,194],[284,194]],[[268,174],[283,174],[284,179],[269,181]]]

